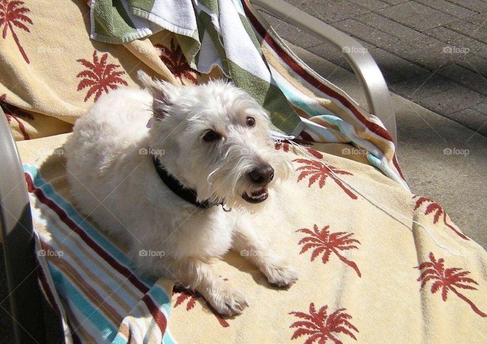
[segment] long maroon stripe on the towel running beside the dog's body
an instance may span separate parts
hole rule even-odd
[[[47,198],[41,189],[34,187],[32,179],[30,178],[30,175],[28,173],[24,174],[25,180],[27,181],[27,188],[30,193],[36,195],[39,201],[51,208],[59,216],[60,220],[64,224],[66,224],[66,226],[68,226],[69,228],[71,228],[71,230],[77,233],[81,237],[81,239],[93,249],[93,251],[95,251],[100,257],[105,259],[105,261],[107,261],[107,263],[109,263],[110,266],[112,266],[115,270],[124,275],[138,290],[140,290],[144,294],[149,291],[149,288],[144,283],[142,283],[141,280],[135,277],[135,275],[130,272],[128,268],[117,262],[111,255],[109,255],[103,248],[101,248],[95,241],[93,241],[93,239],[91,239],[88,234],[86,234],[73,222],[73,220],[71,220],[71,218],[67,216],[64,210],[59,208],[56,203]]]

